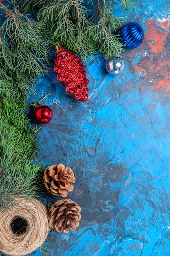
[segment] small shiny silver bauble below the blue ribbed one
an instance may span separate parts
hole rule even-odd
[[[106,70],[110,75],[119,74],[124,69],[124,61],[121,58],[110,57],[106,62]]]

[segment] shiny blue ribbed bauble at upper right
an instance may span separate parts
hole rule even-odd
[[[119,29],[120,43],[132,49],[139,46],[144,40],[144,29],[136,22],[128,22]]]

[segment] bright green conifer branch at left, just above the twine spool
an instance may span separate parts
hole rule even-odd
[[[38,197],[43,189],[38,164],[37,130],[28,126],[23,99],[0,99],[0,211],[7,210],[13,198]]]

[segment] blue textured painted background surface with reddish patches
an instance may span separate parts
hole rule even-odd
[[[41,160],[72,168],[66,198],[82,208],[79,227],[55,232],[48,256],[170,255],[170,6],[136,6],[115,15],[139,23],[143,43],[122,55],[117,76],[106,72],[103,56],[88,63],[86,103],[66,94],[53,72],[35,85],[36,100],[51,92],[42,104],[53,110],[38,135]]]

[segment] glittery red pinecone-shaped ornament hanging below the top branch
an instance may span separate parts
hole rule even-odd
[[[85,102],[88,99],[89,80],[84,69],[81,59],[74,52],[56,46],[54,72],[57,73],[57,81],[65,85],[66,92],[73,93],[75,98]]]

